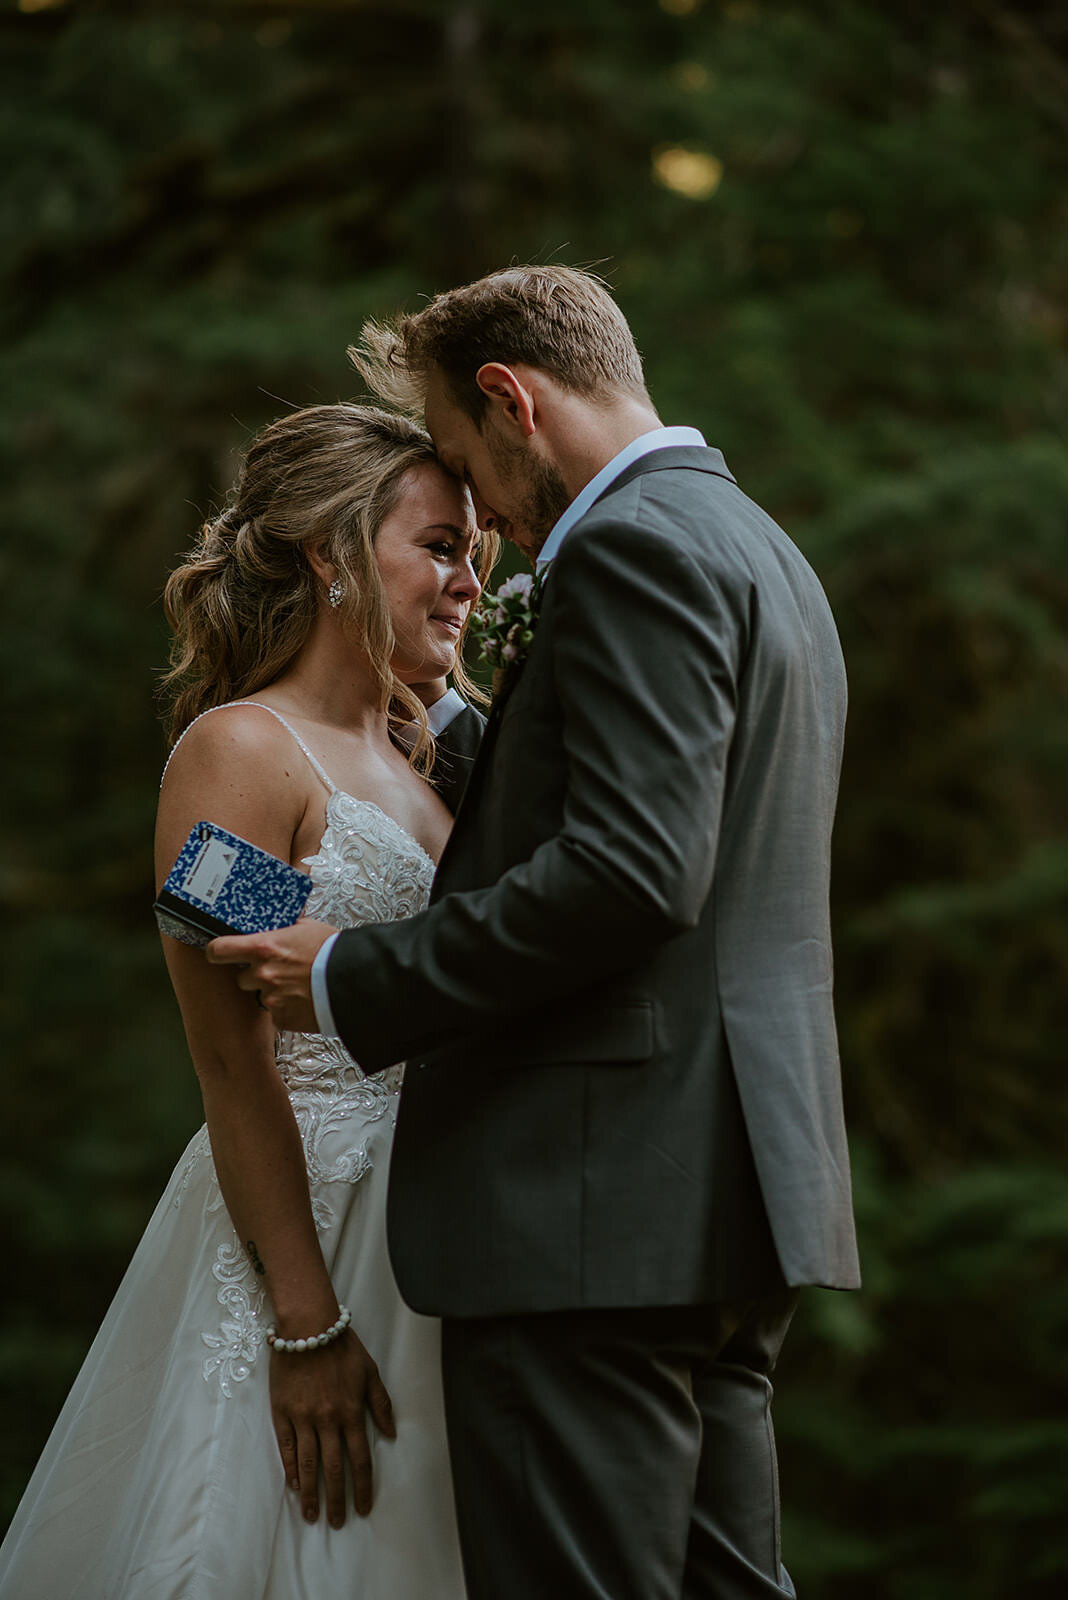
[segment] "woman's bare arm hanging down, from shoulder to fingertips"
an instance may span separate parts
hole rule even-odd
[[[294,773],[289,736],[277,725],[277,739],[267,722],[235,709],[205,718],[182,741],[160,794],[157,883],[205,818],[289,859],[310,794]],[[232,971],[209,966],[201,950],[174,939],[165,938],[163,947],[233,1226],[262,1277],[278,1333],[321,1333],[337,1317],[337,1298],[312,1221],[301,1136],[275,1067],[273,1024]],[[352,1310],[358,1323],[360,1307]],[[313,1354],[272,1354],[272,1402],[286,1478],[294,1488],[299,1482],[305,1515],[318,1514],[320,1448],[331,1522],[344,1522],[345,1458],[357,1510],[366,1512],[365,1405],[384,1432],[393,1429],[389,1395],[358,1338],[349,1333]]]

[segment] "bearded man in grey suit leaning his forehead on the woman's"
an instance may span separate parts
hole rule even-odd
[[[428,910],[217,954],[280,1026],[408,1061],[390,1251],[443,1317],[472,1600],[793,1594],[769,1373],[798,1286],[859,1282],[827,598],[660,426],[592,275],[507,269],[365,338],[537,563],[534,638]]]

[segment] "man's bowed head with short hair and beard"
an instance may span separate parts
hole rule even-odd
[[[622,448],[620,427],[656,426],[624,314],[576,267],[491,272],[393,325],[366,323],[350,354],[376,394],[425,414],[483,526],[528,554]]]

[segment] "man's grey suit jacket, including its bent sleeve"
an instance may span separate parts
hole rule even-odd
[[[411,920],[342,933],[408,1059],[404,1298],[441,1315],[859,1282],[828,926],[846,677],[823,590],[715,450],[635,462],[550,568]]]

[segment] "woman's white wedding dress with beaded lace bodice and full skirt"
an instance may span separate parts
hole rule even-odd
[[[432,858],[297,742],[329,789],[326,832],[305,862],[307,915],[355,926],[420,910]],[[334,1290],[393,1400],[395,1440],[374,1438],[368,1421],[371,1515],[350,1509],[336,1530],[320,1510],[309,1525],[285,1486],[267,1394],[270,1307],[201,1128],[14,1515],[2,1600],[462,1600],[440,1330],[403,1304],[385,1248],[401,1069],[365,1078],[339,1040],[318,1034],[280,1034],[277,1061]]]

